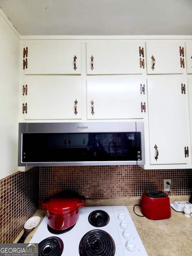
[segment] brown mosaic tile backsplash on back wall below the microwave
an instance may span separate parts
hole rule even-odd
[[[140,197],[144,190],[163,190],[171,179],[170,196],[190,195],[192,169],[143,170],[137,165],[40,167],[40,199],[62,190],[86,198]]]

